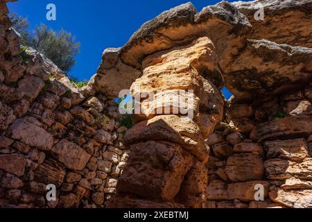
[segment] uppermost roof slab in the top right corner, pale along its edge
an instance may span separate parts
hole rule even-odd
[[[237,1],[233,3],[252,24],[250,37],[268,39],[279,44],[305,46],[312,48],[311,7],[309,0],[297,1]],[[254,14],[261,7],[264,9],[263,21],[254,19]]]

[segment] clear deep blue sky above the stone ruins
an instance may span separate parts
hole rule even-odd
[[[81,44],[80,54],[69,74],[89,80],[100,65],[104,49],[123,46],[141,24],[186,2],[188,0],[19,0],[8,6],[10,11],[26,17],[31,29],[44,23],[55,31],[64,28],[76,36]],[[219,1],[191,2],[199,11]],[[48,3],[56,6],[56,21],[46,20]],[[230,96],[228,92],[225,95]]]

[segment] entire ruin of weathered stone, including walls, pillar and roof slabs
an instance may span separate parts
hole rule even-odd
[[[311,0],[177,6],[106,49],[81,88],[21,51],[6,2],[0,207],[311,207]],[[131,130],[107,100],[129,88],[154,93]],[[193,103],[176,112],[176,93]],[[57,201],[45,200],[50,183]]]

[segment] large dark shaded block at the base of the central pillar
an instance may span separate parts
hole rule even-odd
[[[169,142],[149,141],[132,145],[131,150],[127,170],[119,178],[119,192],[173,200],[191,169],[191,155]]]

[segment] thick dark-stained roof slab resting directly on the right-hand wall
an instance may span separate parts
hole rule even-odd
[[[239,99],[252,99],[254,92],[277,94],[311,81],[310,48],[248,40],[242,51],[225,69],[227,87]]]

